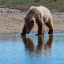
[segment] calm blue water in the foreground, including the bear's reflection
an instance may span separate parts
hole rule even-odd
[[[64,64],[64,33],[0,35],[0,64]]]

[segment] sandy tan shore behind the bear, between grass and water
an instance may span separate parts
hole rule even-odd
[[[54,32],[64,32],[64,12],[51,11],[54,24]],[[27,14],[26,11],[0,8],[0,34],[20,34],[24,25],[24,17]],[[44,32],[48,32],[48,28],[44,27]],[[33,32],[37,32],[38,28],[35,24],[32,29]]]

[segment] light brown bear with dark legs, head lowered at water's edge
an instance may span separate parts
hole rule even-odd
[[[48,34],[53,34],[53,22],[50,10],[44,6],[31,6],[24,18],[25,24],[21,35],[29,34],[35,23],[38,26],[37,35],[44,34],[44,25],[49,28]]]

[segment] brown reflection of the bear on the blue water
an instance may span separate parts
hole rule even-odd
[[[29,52],[42,52],[44,50],[51,49],[53,43],[53,35],[49,35],[49,39],[46,43],[44,43],[44,36],[37,36],[38,37],[38,44],[37,46],[34,45],[33,41],[26,36],[21,36],[23,43],[25,45],[26,50]]]

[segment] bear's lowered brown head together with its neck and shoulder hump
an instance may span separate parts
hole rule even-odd
[[[32,30],[32,28],[36,22],[36,19],[39,17],[38,15],[39,15],[39,13],[38,13],[38,10],[36,9],[36,7],[31,6],[25,17],[25,27],[26,27],[27,34],[29,34],[30,31]]]

